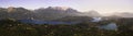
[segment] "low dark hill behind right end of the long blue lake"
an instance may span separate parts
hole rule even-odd
[[[93,20],[89,16],[65,16],[62,19],[53,20],[53,21],[61,21],[61,22],[89,22]]]

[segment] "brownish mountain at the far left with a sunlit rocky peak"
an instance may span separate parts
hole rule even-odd
[[[30,10],[24,8],[8,8],[8,9],[0,9],[0,17],[1,19],[30,19],[32,17],[33,13]]]

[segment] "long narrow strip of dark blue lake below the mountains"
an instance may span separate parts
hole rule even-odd
[[[79,22],[58,22],[58,21],[40,21],[40,20],[19,20],[21,23],[30,24],[76,24]]]

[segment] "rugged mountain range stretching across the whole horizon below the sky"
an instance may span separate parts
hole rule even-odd
[[[119,17],[133,17],[133,13],[114,13],[110,15],[110,17],[119,16]],[[0,8],[0,19],[30,19],[30,20],[59,20],[71,16],[89,16],[89,17],[103,17],[98,11],[89,11],[89,12],[80,12],[72,8],[63,8],[63,7],[48,7],[40,8],[35,10],[28,10],[24,8]]]

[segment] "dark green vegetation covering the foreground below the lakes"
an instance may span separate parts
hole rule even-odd
[[[16,20],[7,19],[0,20],[0,36],[133,36],[133,19],[120,19],[114,22],[119,25],[117,31],[95,27],[96,25],[94,24],[103,25],[102,22],[50,25],[23,24]]]

